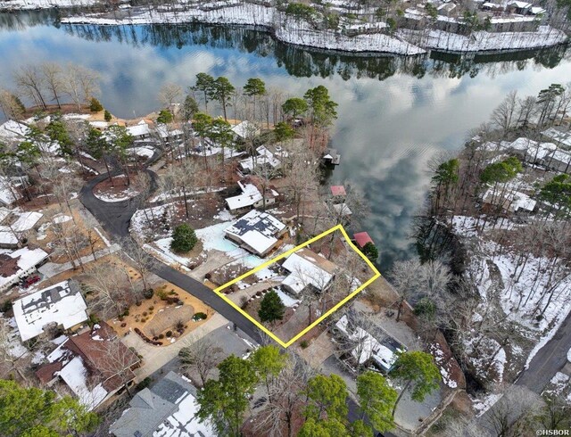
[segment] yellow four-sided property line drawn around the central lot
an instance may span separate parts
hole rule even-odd
[[[257,271],[261,270],[262,268],[268,267],[270,264],[273,264],[276,261],[281,260],[281,259],[291,255],[292,253],[294,253],[294,251],[299,251],[303,247],[310,245],[310,243],[316,242],[320,238],[323,238],[326,235],[332,234],[335,231],[341,232],[341,234],[345,238],[345,241],[349,244],[349,246],[352,248],[352,250],[356,251],[359,254],[359,256],[363,260],[365,260],[368,267],[371,268],[371,270],[373,270],[375,275],[372,276],[370,279],[368,279],[368,281],[365,284],[361,284],[357,290],[355,290],[354,292],[352,292],[351,294],[346,296],[343,299],[343,301],[340,301],[339,303],[337,303],[335,305],[335,307],[333,307],[332,309],[329,309],[325,314],[323,314],[321,317],[319,317],[317,320],[315,320],[310,326],[303,329],[301,333],[295,335],[294,338],[292,338],[290,341],[283,342],[279,337],[277,337],[276,334],[273,334],[266,326],[261,325],[261,323],[258,320],[253,318],[250,314],[245,312],[244,309],[241,309],[238,305],[236,305],[236,303],[231,301],[226,294],[220,293],[221,290],[224,290],[225,288],[229,287],[232,284],[236,284],[236,282],[241,281],[242,279],[244,279],[244,277],[253,275]],[[296,342],[304,334],[307,334],[311,329],[313,329],[315,326],[317,326],[323,319],[331,316],[337,309],[340,309],[347,301],[350,301],[357,293],[360,293],[361,291],[363,291],[363,289],[365,287],[367,287],[368,284],[373,283],[380,276],[381,276],[381,274],[379,273],[379,271],[377,270],[375,265],[365,255],[363,255],[363,253],[357,248],[357,246],[355,246],[355,244],[352,243],[351,238],[349,238],[349,235],[347,235],[343,226],[337,225],[336,227],[332,227],[331,229],[329,229],[329,230],[327,230],[327,231],[325,231],[325,232],[323,232],[317,236],[314,236],[313,238],[306,241],[305,243],[302,243],[299,246],[295,246],[294,249],[290,249],[289,251],[285,251],[284,253],[277,256],[276,258],[273,258],[272,260],[266,261],[256,268],[252,268],[252,270],[244,273],[244,275],[238,276],[235,279],[232,279],[231,281],[229,281],[228,283],[223,284],[223,285],[219,286],[218,288],[215,288],[214,293],[217,293],[219,295],[219,297],[221,297],[224,301],[227,301],[230,306],[232,306],[234,309],[238,310],[244,317],[246,317],[248,320],[250,320],[255,326],[258,326],[261,329],[261,331],[268,334],[269,337],[271,337],[274,341],[277,342],[277,344],[279,344],[280,346],[282,346],[284,348],[287,348],[287,347],[291,346],[294,342]]]

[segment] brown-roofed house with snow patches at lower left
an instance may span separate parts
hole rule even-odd
[[[135,379],[140,360],[101,322],[86,333],[68,337],[47,356],[36,375],[52,385],[61,380],[88,409],[94,409]]]

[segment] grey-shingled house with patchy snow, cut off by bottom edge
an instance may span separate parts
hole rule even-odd
[[[138,392],[111,425],[115,437],[213,437],[209,422],[196,416],[196,389],[189,381],[169,372],[151,388]]]

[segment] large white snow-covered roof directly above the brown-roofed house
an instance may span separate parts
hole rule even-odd
[[[64,329],[87,320],[87,305],[76,286],[68,281],[52,285],[13,302],[14,317],[22,341],[44,332],[55,323]]]

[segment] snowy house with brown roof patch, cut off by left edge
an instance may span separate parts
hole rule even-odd
[[[18,283],[21,278],[35,272],[47,257],[46,251],[28,247],[0,253],[0,292],[4,292]]]

